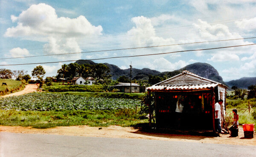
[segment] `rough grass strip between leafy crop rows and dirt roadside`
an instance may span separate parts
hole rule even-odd
[[[120,114],[126,113],[126,114]],[[147,123],[139,120],[134,109],[93,110],[93,111],[15,111],[0,110],[0,125],[32,126],[33,128],[52,128],[56,126],[136,126]]]

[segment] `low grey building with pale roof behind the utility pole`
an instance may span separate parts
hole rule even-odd
[[[119,89],[120,92],[124,93],[130,93],[130,87],[132,93],[145,92],[145,87],[139,86],[137,83],[118,83],[116,86],[111,87]]]

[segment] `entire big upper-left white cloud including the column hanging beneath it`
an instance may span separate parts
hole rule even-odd
[[[17,26],[8,28],[4,36],[48,42],[44,45],[45,54],[81,52],[77,40],[97,37],[103,30],[102,26],[93,26],[84,16],[58,17],[55,9],[44,3],[32,5],[18,17],[12,15],[11,19]],[[78,60],[81,54],[60,55],[58,59]]]

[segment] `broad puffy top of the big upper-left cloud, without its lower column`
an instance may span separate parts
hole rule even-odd
[[[91,25],[84,16],[74,19],[58,17],[55,9],[44,3],[32,5],[26,11],[22,11],[18,17],[12,16],[12,19],[18,21],[18,26],[8,28],[5,33],[6,37],[26,36],[29,38],[33,35],[81,37],[102,34],[102,26]]]

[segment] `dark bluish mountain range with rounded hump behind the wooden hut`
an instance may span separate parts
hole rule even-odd
[[[91,61],[91,60],[78,60],[76,61],[79,65],[81,64],[91,64],[95,65],[97,63]],[[130,69],[120,69],[118,66],[109,64],[109,63],[103,63],[104,65],[108,66],[110,69],[110,74],[112,75],[112,79],[116,80],[120,76],[127,76],[130,77]],[[222,77],[219,75],[218,71],[211,66],[208,63],[193,63],[189,64],[181,69],[175,70],[175,71],[165,71],[160,72],[156,70],[151,70],[148,68],[143,69],[131,69],[131,75],[132,79],[136,80],[148,80],[149,75],[157,75],[160,77],[173,77],[177,74],[180,74],[183,70],[187,70],[189,72],[192,72],[194,74],[197,74],[198,76],[207,78],[209,80],[214,80],[219,83],[223,83],[224,85],[229,86],[230,88],[232,86],[237,86],[238,88],[247,88],[250,85],[256,84],[256,77],[243,77],[239,80],[232,80],[229,82],[224,82]]]

